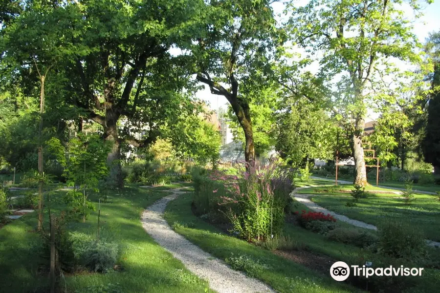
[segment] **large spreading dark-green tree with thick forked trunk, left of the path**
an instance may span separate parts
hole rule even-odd
[[[200,0],[48,5],[26,1],[25,11],[9,25],[8,44],[22,55],[48,59],[47,50],[41,50],[48,41],[63,49],[50,52],[50,60],[56,62],[53,71],[58,88],[47,98],[67,101],[79,110],[79,117],[102,126],[103,138],[113,143],[108,161],[116,162],[111,174],[118,185],[122,185],[117,164],[121,145],[129,142],[142,147],[154,142],[171,109],[179,109],[180,96],[173,93],[191,87],[186,83],[184,63],[171,56],[169,49],[187,42],[197,26],[192,17],[201,4]],[[56,39],[53,32],[58,33]],[[14,54],[8,44],[6,56]],[[40,51],[33,52],[35,48]],[[20,65],[22,71],[29,68],[28,62]],[[147,135],[134,139],[131,134],[141,129],[147,129]]]

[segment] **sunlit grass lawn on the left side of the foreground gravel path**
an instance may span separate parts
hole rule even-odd
[[[179,186],[182,185],[171,187]],[[67,292],[98,292],[96,288],[100,286],[116,286],[119,289],[115,292],[124,293],[205,292],[207,283],[187,271],[142,228],[141,211],[169,194],[165,190],[169,187],[127,187],[110,195],[108,203],[101,204],[100,237],[119,244],[122,253],[118,264],[123,270],[66,276],[61,283]],[[61,196],[62,192],[57,194]],[[93,196],[91,200],[96,202]],[[97,212],[92,212],[87,223],[70,223],[68,230],[94,237],[96,225]],[[39,257],[42,241],[33,231],[35,226],[36,214],[32,213],[0,229],[0,292],[37,292],[46,284],[47,279],[37,274],[37,266],[44,260]],[[40,289],[38,292],[46,291]]]

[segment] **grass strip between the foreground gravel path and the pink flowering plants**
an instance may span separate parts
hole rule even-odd
[[[165,219],[176,231],[204,251],[226,260],[245,256],[251,259],[247,272],[277,292],[356,292],[302,265],[286,260],[246,241],[225,235],[214,226],[196,217],[191,211],[192,194],[186,193],[167,206]],[[252,265],[254,264],[254,265]]]

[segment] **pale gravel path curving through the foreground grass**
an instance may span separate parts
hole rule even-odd
[[[232,270],[220,259],[202,251],[172,230],[163,218],[163,213],[167,204],[185,191],[171,191],[173,194],[156,201],[142,213],[142,226],[159,245],[170,251],[188,270],[208,280],[210,288],[219,293],[274,292],[261,281]]]

